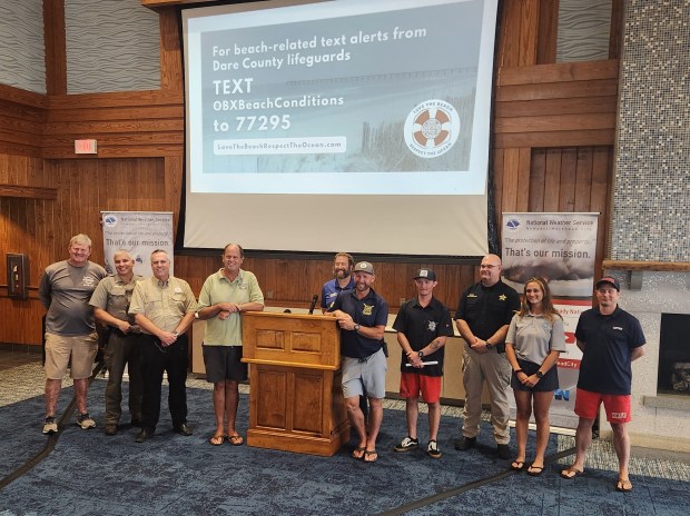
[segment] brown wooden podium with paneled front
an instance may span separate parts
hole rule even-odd
[[[349,439],[341,386],[341,333],[333,317],[247,311],[247,445],[334,455]]]

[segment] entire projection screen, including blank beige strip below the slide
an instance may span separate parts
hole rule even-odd
[[[496,10],[183,9],[184,246],[484,255]]]

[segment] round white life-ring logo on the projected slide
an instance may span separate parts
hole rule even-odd
[[[460,116],[448,102],[438,99],[417,105],[405,120],[405,143],[421,158],[435,158],[455,145]]]

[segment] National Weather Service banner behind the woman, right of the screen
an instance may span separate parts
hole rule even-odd
[[[592,307],[598,216],[503,214],[503,280],[522,295],[530,278],[543,278],[563,317],[568,353],[558,361],[560,388],[551,405],[552,426],[578,426],[573,410],[582,351],[574,334],[580,314]],[[511,399],[514,409],[513,404]]]

